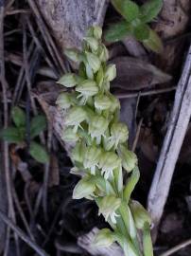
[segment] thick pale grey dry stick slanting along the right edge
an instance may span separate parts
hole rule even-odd
[[[182,147],[182,141],[191,117],[191,46],[177,87],[174,107],[157,169],[148,194],[148,210],[154,222],[153,238],[156,237],[172,175]]]

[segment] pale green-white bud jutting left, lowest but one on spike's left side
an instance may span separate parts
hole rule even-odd
[[[88,178],[84,177],[78,181],[78,184],[73,191],[73,199],[81,199],[83,197],[94,196],[95,190],[96,185],[88,180]]]

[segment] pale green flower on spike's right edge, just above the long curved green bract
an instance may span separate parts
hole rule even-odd
[[[137,156],[122,145],[119,147],[118,154],[122,159],[123,168],[127,172],[131,172],[137,164]]]

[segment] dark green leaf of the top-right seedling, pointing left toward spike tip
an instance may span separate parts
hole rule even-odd
[[[130,35],[130,24],[121,21],[111,25],[106,31],[105,40],[108,42],[117,42]]]

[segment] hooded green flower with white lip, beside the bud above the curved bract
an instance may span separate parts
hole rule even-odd
[[[110,174],[113,174],[113,170],[119,167],[121,164],[121,159],[118,155],[113,152],[105,152],[101,155],[99,160],[99,168],[101,174],[104,174],[105,179],[108,179]]]

